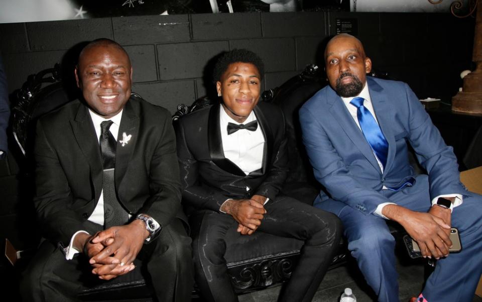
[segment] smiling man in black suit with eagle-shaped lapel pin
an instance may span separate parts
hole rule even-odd
[[[37,125],[34,202],[45,240],[25,273],[25,301],[75,300],[138,264],[159,301],[190,301],[170,114],[131,95],[131,61],[111,40],[89,43],[75,76],[83,100]]]

